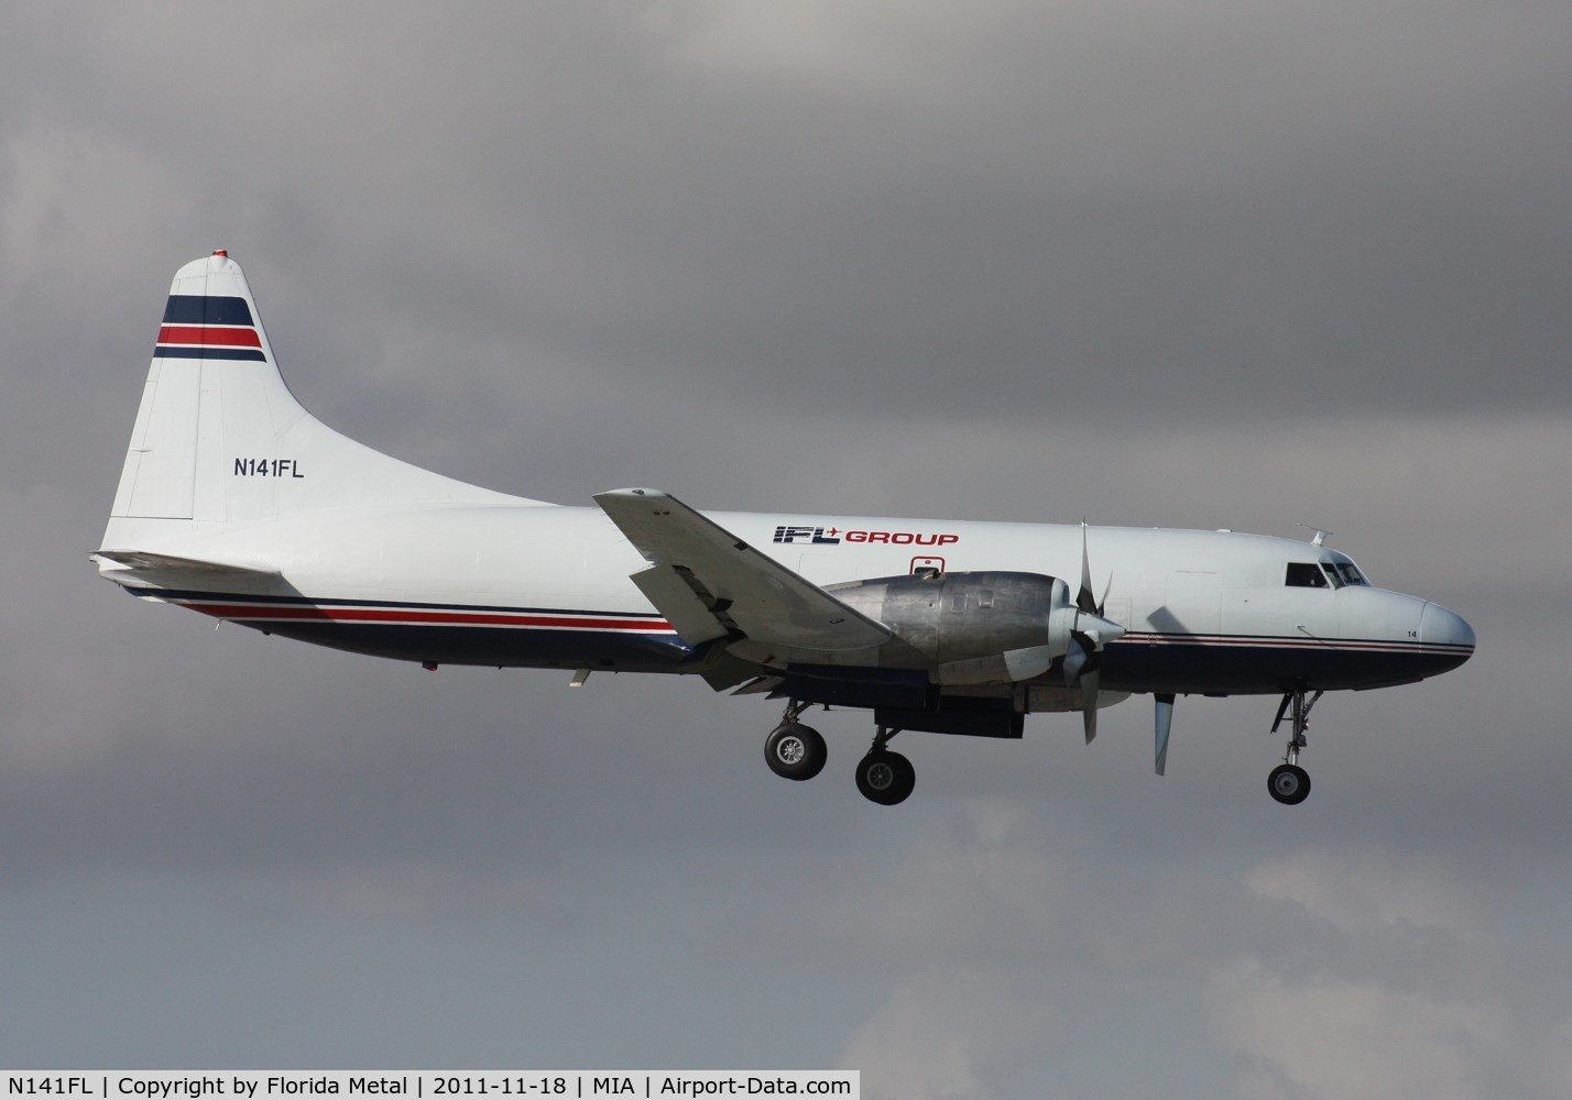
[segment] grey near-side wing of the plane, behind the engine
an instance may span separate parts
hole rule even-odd
[[[632,575],[682,641],[747,636],[794,649],[879,646],[890,627],[759,553],[731,531],[654,489],[597,493],[596,503],[649,569]]]

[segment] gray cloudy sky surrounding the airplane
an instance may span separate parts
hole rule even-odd
[[[1572,9],[8,5],[0,1064],[846,1067],[866,1097],[1572,1095]],[[563,503],[1328,526],[1443,679],[775,779],[773,704],[424,674],[86,552],[168,278]]]

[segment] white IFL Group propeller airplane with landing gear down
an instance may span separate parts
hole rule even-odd
[[[825,765],[810,707],[871,710],[855,779],[879,805],[916,783],[899,732],[1022,739],[1027,715],[1078,712],[1089,743],[1130,695],[1154,699],[1159,775],[1179,696],[1280,696],[1267,787],[1298,805],[1325,691],[1475,651],[1460,616],[1376,588],[1324,531],[700,512],[656,489],[572,508],[421,470],[296,401],[222,250],[174,275],[91,558],[149,602],[428,669],[692,674],[784,699],[764,754],[786,779]]]

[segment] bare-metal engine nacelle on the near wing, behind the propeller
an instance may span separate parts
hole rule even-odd
[[[910,574],[827,591],[888,625],[940,669],[1044,647],[1063,657],[1075,622],[1069,588],[1044,574]]]

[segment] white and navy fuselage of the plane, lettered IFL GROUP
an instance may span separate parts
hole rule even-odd
[[[1075,578],[1080,526],[717,512],[709,519],[816,585],[945,572]],[[1467,658],[1456,614],[1369,585],[1295,586],[1289,563],[1347,558],[1228,531],[1086,528],[1093,588],[1126,635],[1110,691],[1276,693],[1434,676]],[[645,561],[594,508],[371,506],[214,525],[157,547],[263,561],[277,577],[159,596],[270,633],[423,663],[696,671],[629,580]],[[1357,575],[1357,574],[1355,574]]]

